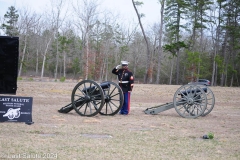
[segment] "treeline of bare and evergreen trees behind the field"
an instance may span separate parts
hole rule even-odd
[[[99,10],[97,0],[51,1],[37,14],[10,6],[0,17],[2,35],[20,39],[18,76],[105,81],[121,60],[141,83],[239,86],[240,1],[156,0],[161,19],[144,28],[140,1],[132,0],[138,22],[125,25]]]

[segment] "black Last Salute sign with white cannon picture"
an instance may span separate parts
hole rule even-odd
[[[32,122],[32,97],[0,96],[0,122]]]

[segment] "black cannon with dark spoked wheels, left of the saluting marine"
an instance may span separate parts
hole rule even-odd
[[[114,82],[98,84],[83,80],[74,87],[71,102],[58,112],[68,113],[74,109],[81,116],[115,115],[123,105],[123,92]]]

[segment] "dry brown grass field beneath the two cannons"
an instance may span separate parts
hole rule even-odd
[[[185,119],[174,109],[143,110],[171,102],[177,85],[136,84],[128,116],[81,117],[58,113],[70,103],[74,82],[18,82],[18,96],[33,97],[34,124],[0,123],[0,159],[240,159],[240,88],[212,87],[216,98],[206,117]],[[213,132],[213,140],[201,137]],[[46,158],[45,158],[46,159]]]

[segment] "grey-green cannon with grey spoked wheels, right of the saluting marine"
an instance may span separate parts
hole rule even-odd
[[[197,118],[206,116],[214,107],[215,97],[212,90],[205,85],[187,84],[181,86],[173,96],[173,102],[147,108],[146,114],[158,114],[175,108],[184,118]]]

